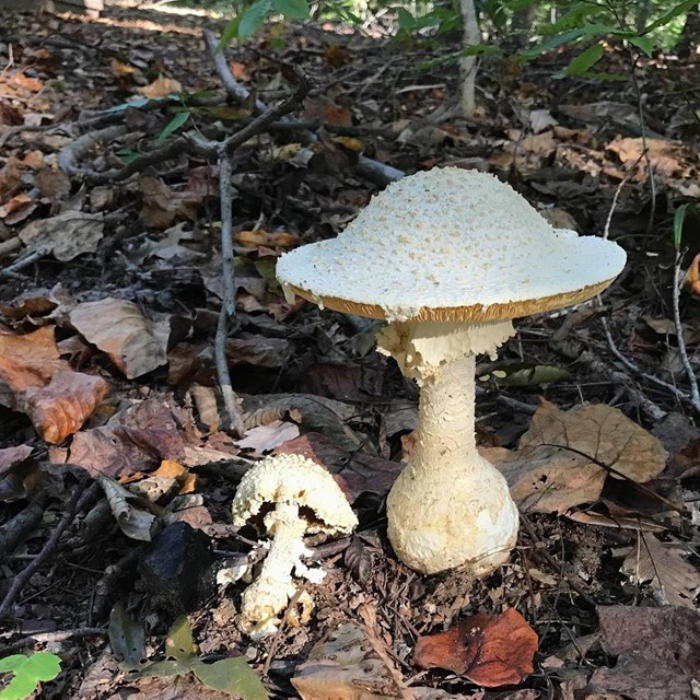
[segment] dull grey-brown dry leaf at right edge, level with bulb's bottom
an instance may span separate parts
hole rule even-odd
[[[687,559],[680,542],[662,542],[640,533],[637,547],[622,562],[622,573],[633,583],[650,583],[666,604],[693,608],[700,593],[700,571]]]

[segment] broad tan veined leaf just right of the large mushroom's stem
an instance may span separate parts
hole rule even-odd
[[[641,483],[661,474],[668,456],[657,438],[605,404],[561,411],[542,401],[520,448],[547,444],[582,452]]]

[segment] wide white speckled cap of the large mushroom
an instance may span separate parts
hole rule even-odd
[[[625,250],[553,229],[497,177],[455,167],[389,185],[337,238],[282,256],[287,290],[388,320],[485,322],[595,296]]]

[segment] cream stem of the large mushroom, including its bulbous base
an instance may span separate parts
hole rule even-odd
[[[512,326],[451,330],[472,342],[445,341],[447,351],[436,362],[421,363],[420,334],[400,343],[398,354],[411,360],[410,374],[419,380],[421,392],[416,446],[387,499],[388,535],[411,569],[439,573],[464,567],[480,576],[508,559],[518,515],[505,479],[476,447],[474,352],[494,351]],[[407,339],[406,334],[398,336]],[[387,349],[396,337],[389,331],[380,342]],[[492,342],[487,346],[489,337]],[[392,354],[397,350],[392,347]],[[399,364],[406,372],[408,364]]]

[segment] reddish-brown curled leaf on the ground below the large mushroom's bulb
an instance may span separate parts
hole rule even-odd
[[[497,688],[518,684],[533,673],[537,644],[535,630],[510,608],[495,618],[479,612],[445,632],[419,637],[413,662]]]

